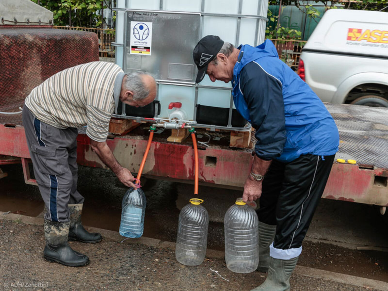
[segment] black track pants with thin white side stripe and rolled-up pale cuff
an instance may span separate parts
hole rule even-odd
[[[300,156],[289,163],[272,161],[263,180],[260,222],[276,225],[270,255],[288,260],[301,253],[302,241],[325,189],[333,156]]]

